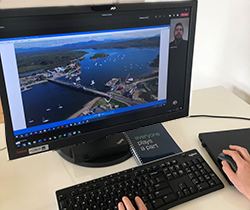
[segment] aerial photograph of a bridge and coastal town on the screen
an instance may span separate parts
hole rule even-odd
[[[160,31],[15,43],[27,127],[158,100]]]

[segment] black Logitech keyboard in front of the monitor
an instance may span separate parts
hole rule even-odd
[[[197,150],[190,150],[56,191],[60,210],[115,210],[139,196],[148,210],[166,210],[223,188]]]

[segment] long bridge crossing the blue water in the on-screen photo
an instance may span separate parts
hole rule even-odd
[[[85,87],[85,86],[83,86],[81,84],[73,84],[73,83],[70,83],[70,82],[63,82],[63,81],[56,80],[56,79],[48,79],[48,81],[56,83],[58,85],[66,86],[66,87],[69,87],[69,88],[72,88],[72,89],[76,89],[76,90],[80,90],[80,91],[84,91],[84,92],[91,92],[91,93],[101,95],[101,96],[104,96],[104,97],[112,98],[112,96],[107,94],[107,93],[104,93],[104,92],[101,92],[101,91],[98,91],[98,90],[94,90],[94,89],[91,89],[91,88],[87,88],[87,87]]]

